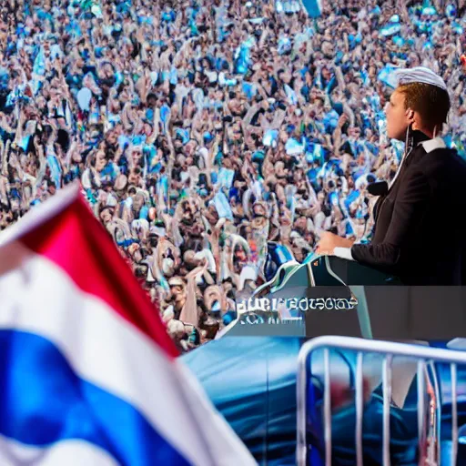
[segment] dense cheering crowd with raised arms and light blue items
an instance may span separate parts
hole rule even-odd
[[[464,155],[465,8],[322,4],[2,2],[1,228],[79,179],[184,350],[265,279],[268,242],[302,261],[322,230],[370,238],[366,187],[403,151],[393,66],[443,76]]]

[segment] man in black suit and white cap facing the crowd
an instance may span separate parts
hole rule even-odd
[[[323,233],[317,252],[378,268],[405,285],[461,285],[466,164],[436,137],[450,111],[449,94],[427,68],[397,75],[386,108],[387,133],[406,141],[405,154],[375,205],[373,239],[355,244]]]

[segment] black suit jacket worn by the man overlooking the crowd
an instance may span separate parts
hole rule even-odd
[[[461,285],[466,234],[466,163],[455,150],[414,148],[374,210],[372,242],[354,245],[361,264],[396,275],[406,285]]]

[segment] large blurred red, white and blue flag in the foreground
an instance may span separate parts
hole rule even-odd
[[[0,464],[256,464],[79,189],[0,235]]]

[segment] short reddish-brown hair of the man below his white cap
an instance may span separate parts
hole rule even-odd
[[[404,106],[418,112],[427,127],[442,127],[450,112],[450,96],[439,86],[425,83],[401,85],[397,91],[405,96]]]

